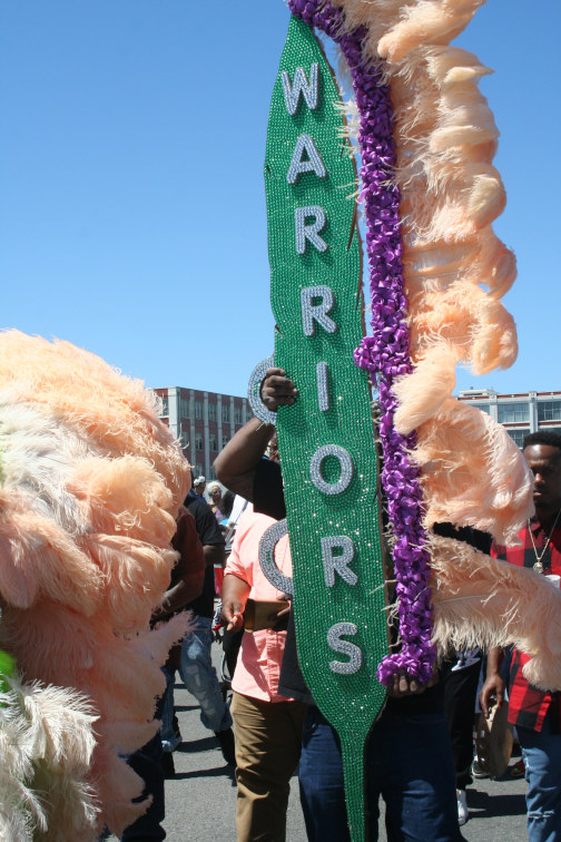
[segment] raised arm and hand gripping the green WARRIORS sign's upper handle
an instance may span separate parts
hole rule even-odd
[[[263,403],[272,412],[280,405],[291,405],[297,390],[283,369],[268,369],[262,383]],[[275,428],[252,418],[226,444],[214,462],[220,482],[246,500],[253,501],[255,471]]]

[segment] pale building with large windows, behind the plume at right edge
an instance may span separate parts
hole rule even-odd
[[[561,392],[498,394],[492,389],[465,389],[459,393],[459,400],[489,412],[506,428],[519,448],[530,432],[561,433]]]

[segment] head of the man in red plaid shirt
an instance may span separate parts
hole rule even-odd
[[[533,473],[533,500],[540,519],[561,508],[561,435],[541,430],[524,438],[524,459]]]

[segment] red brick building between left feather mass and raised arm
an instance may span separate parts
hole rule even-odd
[[[234,433],[252,418],[246,398],[196,389],[168,386],[155,389],[161,398],[161,420],[176,439],[195,476],[214,479],[213,462]]]

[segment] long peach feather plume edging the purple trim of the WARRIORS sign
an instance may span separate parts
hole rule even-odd
[[[528,571],[506,571],[431,532],[435,522],[451,521],[513,544],[533,513],[532,478],[506,431],[452,396],[457,364],[483,374],[510,366],[518,353],[514,321],[500,301],[516,262],[493,232],[506,200],[493,166],[499,130],[478,87],[491,70],[450,45],[484,0],[331,2],[343,10],[346,30],[365,29],[363,51],[390,85],[394,108],[412,362],[412,372],[394,382],[394,423],[403,435],[416,431],[411,458],[421,470],[434,639],[441,650],[450,642],[514,640],[533,656],[528,677],[559,688],[554,644],[543,656],[538,648],[551,635],[540,634],[535,607],[547,599],[553,617],[558,595]],[[531,608],[530,585],[538,588]]]

